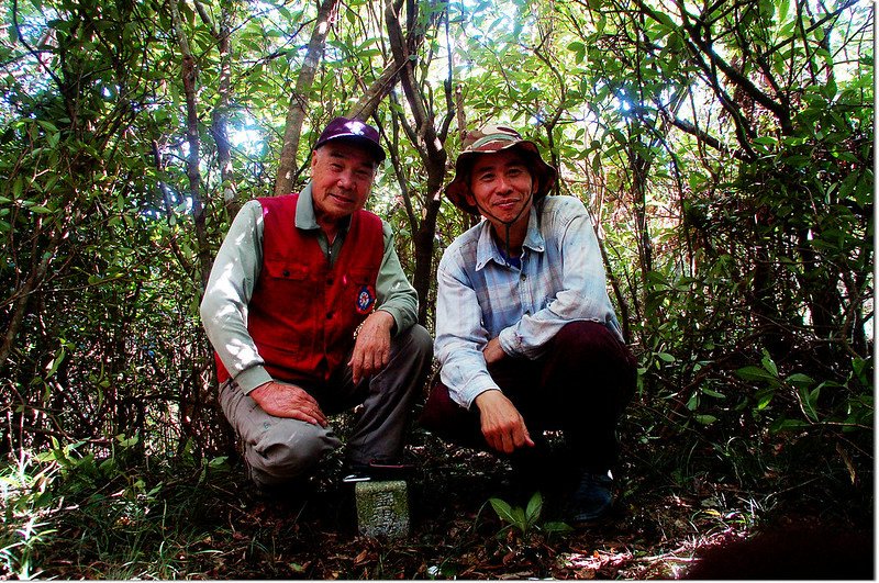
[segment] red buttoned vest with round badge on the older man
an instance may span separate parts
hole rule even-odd
[[[264,367],[281,381],[326,381],[354,345],[354,329],[372,311],[385,253],[381,220],[352,215],[334,267],[313,232],[296,228],[299,194],[258,199],[263,268],[248,304],[247,329]],[[229,372],[216,358],[220,382]]]

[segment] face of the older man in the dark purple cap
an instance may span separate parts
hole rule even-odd
[[[318,221],[338,222],[363,209],[376,161],[366,148],[346,142],[330,142],[311,155],[311,195]]]

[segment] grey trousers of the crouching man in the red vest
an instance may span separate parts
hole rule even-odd
[[[318,400],[326,415],[363,405],[345,451],[348,463],[396,461],[432,360],[433,340],[415,324],[391,338],[390,361],[379,373],[355,385],[351,368],[343,367],[326,384],[300,386]],[[241,439],[244,460],[257,485],[280,485],[308,474],[325,453],[342,446],[332,425],[321,427],[269,415],[233,380],[220,385],[220,405]]]

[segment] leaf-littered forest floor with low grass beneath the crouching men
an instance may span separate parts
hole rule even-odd
[[[415,431],[411,534],[401,540],[358,534],[336,458],[310,490],[264,500],[235,459],[143,458],[122,438],[96,459],[86,444],[56,444],[2,469],[0,576],[674,579],[700,549],[769,525],[872,530],[871,472],[853,480],[842,457],[815,459],[819,436],[776,435],[749,452],[731,442],[724,452],[700,439],[639,439],[635,419],[623,429],[614,516],[578,529],[560,528],[552,487],[527,522],[504,518],[492,498],[522,509],[534,500],[505,462]],[[747,464],[763,467],[759,480]]]

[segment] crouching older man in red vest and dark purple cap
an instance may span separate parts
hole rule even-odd
[[[383,159],[376,128],[333,120],[311,182],[247,202],[216,255],[201,318],[220,404],[260,491],[307,478],[342,445],[327,416],[357,405],[351,471],[400,461],[433,351],[391,228],[363,210]]]

